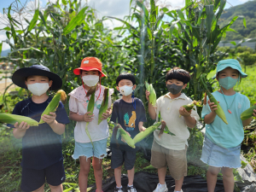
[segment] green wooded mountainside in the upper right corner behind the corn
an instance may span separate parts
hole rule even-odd
[[[240,5],[224,9],[220,16],[220,26],[227,25],[234,16],[244,16],[247,20],[247,27],[243,26],[243,18],[238,18],[230,28],[236,32],[227,32],[224,40],[235,40],[241,38],[256,38],[256,0],[248,1]]]

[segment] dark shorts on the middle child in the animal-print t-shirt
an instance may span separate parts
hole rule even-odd
[[[136,150],[124,150],[122,148],[111,148],[111,168],[115,169],[123,166],[125,162],[125,170],[131,170],[136,160]]]

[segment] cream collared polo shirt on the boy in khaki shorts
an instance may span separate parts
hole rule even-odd
[[[176,135],[171,136],[163,133],[161,137],[158,137],[160,131],[156,130],[154,131],[154,141],[156,143],[172,150],[183,150],[185,149],[185,145],[189,146],[187,141],[189,138],[189,130],[185,119],[179,114],[179,108],[191,102],[192,100],[183,93],[175,99],[172,99],[169,93],[167,93],[165,96],[160,96],[156,100],[155,110],[157,117],[160,113],[161,118],[166,121],[169,131]],[[196,121],[200,119],[196,108],[194,108],[194,110],[192,109],[191,117]]]

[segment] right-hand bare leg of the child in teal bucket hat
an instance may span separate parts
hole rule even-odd
[[[225,192],[233,192],[235,184],[233,169],[229,167],[222,167],[221,172],[223,174],[223,184]]]

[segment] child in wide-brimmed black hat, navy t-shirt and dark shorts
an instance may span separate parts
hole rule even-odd
[[[32,92],[32,97],[18,102],[13,114],[23,115],[39,121],[52,97],[47,90],[61,88],[61,78],[48,67],[33,65],[15,71],[14,84]],[[65,181],[61,134],[69,123],[67,113],[60,102],[55,113],[42,117],[44,124],[30,126],[25,122],[9,125],[16,138],[22,138],[22,176],[20,189],[23,191],[44,191],[45,178],[51,191],[63,191]]]

